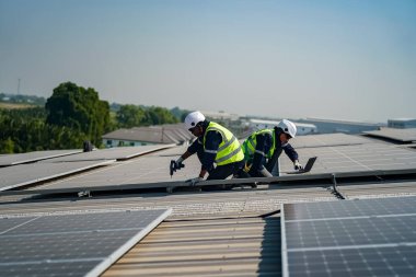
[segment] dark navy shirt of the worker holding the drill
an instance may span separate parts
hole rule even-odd
[[[206,150],[218,151],[220,143],[222,142],[221,134],[216,130],[210,130],[207,132],[205,138],[205,149],[204,149],[204,136],[207,130],[209,122],[204,122],[203,124],[203,135],[200,135],[187,149],[192,154],[198,153],[198,158],[201,163],[201,169],[210,172],[213,170],[213,161],[216,160],[217,153],[207,152]]]

